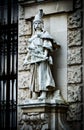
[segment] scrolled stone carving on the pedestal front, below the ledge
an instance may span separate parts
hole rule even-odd
[[[22,115],[23,126],[21,130],[30,128],[41,130],[44,125],[48,126],[49,115],[47,113],[26,113]]]

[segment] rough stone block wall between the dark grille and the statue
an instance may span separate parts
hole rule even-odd
[[[31,22],[24,19],[24,7],[19,6],[19,42],[18,42],[18,104],[29,98],[29,67],[23,66],[27,53],[28,37],[31,35]]]

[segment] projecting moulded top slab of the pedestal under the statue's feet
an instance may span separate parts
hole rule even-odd
[[[23,113],[27,112],[64,112],[68,109],[68,104],[58,104],[58,103],[49,103],[47,101],[36,102],[34,100],[32,103],[20,104],[20,107],[23,110]]]

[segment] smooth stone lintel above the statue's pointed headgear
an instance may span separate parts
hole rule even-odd
[[[30,7],[27,7],[26,5],[24,10],[24,18],[29,19],[34,17],[38,13],[39,9],[43,9],[45,15],[59,13],[59,12],[69,12],[73,10],[73,1],[68,0],[68,2],[66,2],[66,0],[60,0],[60,1],[54,1],[49,3],[42,3],[39,5],[33,4]]]

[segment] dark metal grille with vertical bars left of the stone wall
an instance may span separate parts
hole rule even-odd
[[[17,0],[0,0],[0,130],[17,128]]]

